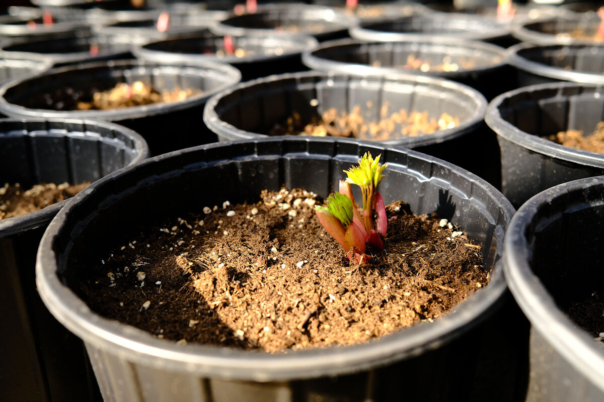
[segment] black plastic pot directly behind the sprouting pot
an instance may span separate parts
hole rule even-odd
[[[439,78],[399,74],[386,79],[322,72],[274,75],[217,93],[205,107],[204,121],[220,141],[256,139],[265,137],[275,124],[284,124],[294,112],[306,123],[330,108],[350,113],[357,105],[365,124],[381,121],[382,107],[389,114],[405,108],[408,112],[428,111],[435,119],[442,113],[459,118],[461,124],[454,128],[416,137],[393,136],[378,143],[440,157],[498,185],[499,161],[493,157],[498,148],[483,122],[484,96]],[[361,139],[370,140],[371,136]],[[477,147],[483,151],[476,152]]]

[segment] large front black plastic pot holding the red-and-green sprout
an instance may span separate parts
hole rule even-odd
[[[418,214],[438,210],[482,244],[489,285],[432,323],[352,347],[269,354],[158,339],[98,316],[72,290],[78,286],[69,279],[72,272],[88,269],[78,256],[108,247],[115,225],[138,227],[166,211],[254,200],[260,190],[277,190],[281,184],[327,196],[342,169],[365,151],[381,154],[381,161],[390,164],[381,184],[386,203],[404,199]],[[37,284],[57,319],[85,341],[106,400],[194,401],[211,395],[216,402],[463,401],[471,394],[474,342],[488,338],[481,324],[506,291],[498,260],[513,214],[509,202],[475,175],[406,149],[280,137],[162,155],[91,189],[62,210],[45,233]],[[153,203],[147,202],[150,197]],[[487,343],[490,350],[500,347]],[[472,351],[470,358],[465,347]]]

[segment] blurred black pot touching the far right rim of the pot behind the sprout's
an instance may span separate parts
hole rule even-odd
[[[450,68],[431,68],[422,72],[418,64]],[[303,61],[309,68],[339,74],[387,77],[390,74],[422,74],[448,78],[480,91],[487,99],[513,89],[512,70],[504,61],[504,49],[489,43],[466,40],[425,39],[420,42],[362,42],[342,39],[325,42],[314,51],[306,51]],[[471,63],[465,66],[464,64]]]

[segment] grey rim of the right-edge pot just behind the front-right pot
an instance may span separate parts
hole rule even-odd
[[[512,143],[522,146],[522,148],[527,148],[533,152],[547,155],[548,157],[555,159],[562,159],[570,162],[580,163],[581,165],[604,168],[604,154],[584,151],[583,149],[575,149],[557,144],[537,135],[526,133],[525,131],[520,130],[515,125],[501,118],[499,106],[506,98],[510,98],[511,96],[518,95],[522,92],[533,92],[536,90],[558,89],[566,87],[598,88],[599,86],[593,84],[561,82],[536,84],[511,90],[509,92],[502,93],[489,103],[486,114],[484,115],[484,121],[493,131],[495,131],[497,136],[503,137]]]

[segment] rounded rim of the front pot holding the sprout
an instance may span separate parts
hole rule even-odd
[[[188,148],[184,152],[194,152],[201,148],[211,151],[214,148],[228,147],[240,143],[254,143],[258,145],[263,142],[327,142],[332,143],[332,145],[337,144],[337,142],[325,138],[299,139],[273,137],[271,139],[257,139],[254,141],[247,140],[227,144],[214,143],[202,145]],[[345,142],[376,150],[376,145],[371,142],[354,140],[345,140]],[[471,186],[470,193],[463,196],[471,198],[471,193],[476,188],[475,186],[485,188],[496,202],[500,213],[504,214],[505,221],[510,221],[514,213],[512,205],[494,187],[476,175],[435,157],[408,149],[381,147],[381,151],[384,156],[386,156],[387,152],[410,155],[438,166],[444,166],[459,176],[466,177],[467,180],[473,180],[474,183]],[[147,166],[155,161],[176,158],[181,152],[183,150],[159,155],[144,160],[138,163],[137,166]],[[287,154],[275,152],[274,154],[260,156],[255,154],[255,151],[251,151],[249,154],[250,157],[269,158],[275,156],[282,157],[281,155]],[[320,157],[326,156],[323,153],[318,155]],[[336,155],[332,154],[332,157],[336,157]],[[315,378],[324,375],[348,374],[374,366],[386,365],[396,360],[418,356],[426,351],[439,348],[464,331],[471,329],[481,319],[486,318],[488,310],[502,300],[501,298],[507,289],[503,277],[501,259],[496,259],[495,265],[492,267],[489,285],[472,294],[466,301],[457,306],[454,311],[428,325],[415,325],[361,345],[271,354],[262,351],[242,351],[229,347],[213,347],[209,345],[177,345],[173,341],[158,339],[146,331],[92,313],[76,294],[61,283],[56,273],[56,256],[52,248],[53,238],[61,227],[61,221],[65,219],[74,206],[82,202],[85,203],[86,198],[97,187],[111,185],[111,181],[128,175],[135,168],[135,166],[130,166],[120,169],[93,183],[88,189],[76,195],[65,208],[60,210],[42,237],[36,261],[37,288],[42,300],[48,309],[51,310],[51,313],[86,343],[101,350],[111,351],[112,354],[118,354],[124,359],[135,360],[147,366],[168,369],[170,371],[194,372],[211,377],[257,382],[287,381]],[[417,179],[422,180],[421,177],[423,176],[418,175]],[[110,184],[106,184],[108,182]]]

